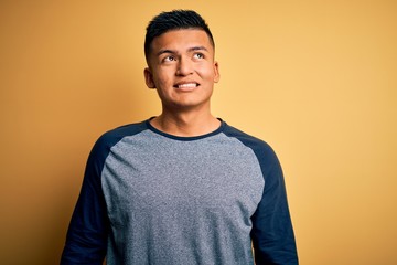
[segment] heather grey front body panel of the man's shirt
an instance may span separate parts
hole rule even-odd
[[[146,129],[110,148],[100,180],[108,264],[254,264],[250,216],[265,181],[238,139]]]

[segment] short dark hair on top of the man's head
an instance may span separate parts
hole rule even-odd
[[[205,20],[193,10],[172,10],[154,17],[147,28],[144,36],[144,56],[148,60],[150,45],[154,38],[171,31],[182,29],[200,29],[207,33],[211,44],[215,47],[214,38]]]

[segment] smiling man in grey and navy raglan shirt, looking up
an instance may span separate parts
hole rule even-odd
[[[150,22],[144,78],[162,113],[95,144],[62,264],[298,264],[275,152],[211,114],[214,50],[194,11]]]

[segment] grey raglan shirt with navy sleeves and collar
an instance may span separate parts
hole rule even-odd
[[[149,120],[104,134],[86,166],[62,264],[298,264],[280,163],[222,121],[178,137]]]

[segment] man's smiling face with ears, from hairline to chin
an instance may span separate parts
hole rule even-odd
[[[158,91],[163,110],[210,109],[219,73],[205,31],[174,30],[154,38],[148,65],[146,83]]]

